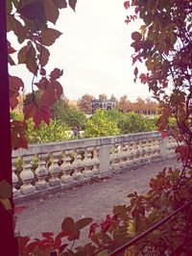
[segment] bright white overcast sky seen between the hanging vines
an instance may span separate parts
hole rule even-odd
[[[127,94],[134,101],[150,96],[148,87],[133,83],[133,31],[139,21],[125,23],[124,0],[78,0],[76,13],[67,8],[60,11],[56,29],[63,34],[50,48],[48,69],[63,68],[60,83],[64,95],[78,99],[84,93],[98,97],[106,93],[117,98]],[[26,90],[31,91],[32,74],[16,66],[12,74],[22,76]]]

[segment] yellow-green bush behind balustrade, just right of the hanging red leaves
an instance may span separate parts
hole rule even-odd
[[[55,141],[66,141],[67,126],[56,119],[50,120],[50,125],[41,123],[38,128],[35,128],[32,119],[27,120],[28,130],[27,137],[30,143],[45,143]]]

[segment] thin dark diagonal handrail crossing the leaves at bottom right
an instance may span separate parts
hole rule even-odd
[[[156,225],[150,227],[149,229],[147,229],[145,232],[143,232],[142,234],[136,236],[135,238],[132,239],[132,241],[125,243],[123,245],[121,245],[120,247],[114,249],[112,252],[108,253],[108,256],[116,256],[119,253],[125,251],[127,248],[129,248],[130,246],[132,246],[134,243],[137,243],[138,241],[140,241],[141,239],[145,238],[148,234],[152,233],[154,230],[156,230],[158,227],[160,227],[161,225],[163,225],[164,223],[166,223],[170,218],[176,216],[178,213],[180,213],[184,208],[186,208],[187,206],[189,206],[192,203],[192,200],[190,200],[188,203],[182,205],[178,210],[174,211],[171,215],[167,216],[166,218],[163,218],[162,220],[158,221],[156,223]]]

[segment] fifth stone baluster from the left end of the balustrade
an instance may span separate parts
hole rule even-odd
[[[73,172],[74,168],[71,165],[71,153],[72,150],[65,150],[65,157],[63,157],[63,163],[60,166],[60,169],[63,173],[63,175],[60,177],[62,183],[72,183],[73,177],[71,176],[71,173]]]

